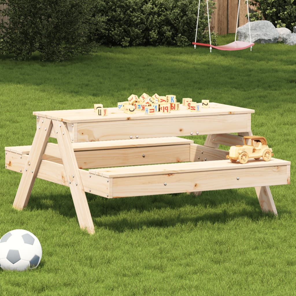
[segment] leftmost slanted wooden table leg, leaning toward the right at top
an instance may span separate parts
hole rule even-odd
[[[23,170],[22,178],[13,203],[13,207],[18,210],[22,210],[28,204],[51,129],[51,119],[43,118],[40,120],[40,126],[36,129],[28,161]]]

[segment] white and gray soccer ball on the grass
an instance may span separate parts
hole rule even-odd
[[[36,268],[41,260],[42,249],[38,238],[30,231],[15,229],[0,239],[0,267],[24,271]]]

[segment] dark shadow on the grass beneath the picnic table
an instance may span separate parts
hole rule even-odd
[[[252,221],[275,219],[272,213],[260,209],[255,190],[254,195],[241,194],[237,189],[207,191],[201,196],[194,194],[164,194],[141,197],[106,199],[87,194],[94,225],[117,232],[143,227],[169,227],[177,224],[200,222],[227,223],[245,217]],[[32,195],[28,210],[51,208],[60,215],[76,217],[71,195]],[[237,208],[237,210],[234,210]],[[286,213],[281,210],[281,213]]]

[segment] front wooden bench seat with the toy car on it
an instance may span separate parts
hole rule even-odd
[[[242,165],[229,160],[92,169],[106,178],[109,197],[169,194],[290,183],[290,162],[272,158]]]

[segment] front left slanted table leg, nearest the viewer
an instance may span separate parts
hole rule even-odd
[[[91,218],[72,143],[70,141],[67,125],[64,122],[57,120],[52,120],[52,123],[54,126],[54,132],[57,136],[57,142],[80,228],[86,228],[86,230],[92,234],[94,233],[94,224]]]

